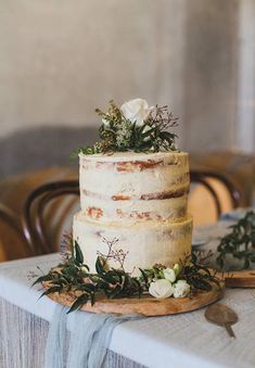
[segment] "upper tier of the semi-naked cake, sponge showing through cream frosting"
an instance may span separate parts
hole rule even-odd
[[[184,152],[80,155],[80,204],[88,220],[170,220],[187,216]]]

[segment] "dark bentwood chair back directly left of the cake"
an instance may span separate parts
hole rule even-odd
[[[67,194],[79,195],[78,180],[49,182],[39,186],[27,196],[24,205],[23,229],[28,244],[36,254],[58,251],[58,234],[77,202],[76,199],[71,199],[68,202],[65,201],[63,206],[63,196],[66,198]],[[58,211],[59,216],[56,216]]]

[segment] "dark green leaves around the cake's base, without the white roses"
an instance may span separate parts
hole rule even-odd
[[[114,254],[111,250],[114,242],[116,241],[109,242],[107,256]],[[179,268],[177,280],[186,280],[190,284],[190,296],[199,290],[209,291],[214,284],[220,285],[219,279],[205,266],[200,265],[193,254],[187,255],[184,261],[177,266]],[[84,264],[84,255],[78,243],[72,241],[71,252],[64,254],[63,263],[52,268],[47,275],[37,278],[34,284],[47,283],[41,296],[55,292],[71,293],[74,296],[74,303],[68,310],[71,313],[81,308],[87,302],[93,305],[100,295],[107,299],[140,297],[143,293],[148,293],[152,281],[164,278],[163,270],[166,268],[162,265],[154,265],[150,269],[140,269],[139,277],[132,277],[122,267],[109,269],[105,258],[100,255],[95,262],[97,274],[92,274]]]

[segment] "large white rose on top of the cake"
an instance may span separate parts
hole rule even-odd
[[[135,99],[128,102],[125,102],[120,110],[126,119],[131,123],[137,123],[137,126],[141,126],[149,117],[153,106],[149,106],[146,100]]]

